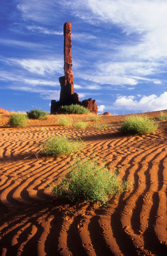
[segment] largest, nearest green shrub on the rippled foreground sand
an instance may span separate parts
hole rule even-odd
[[[108,170],[94,159],[80,157],[71,163],[66,177],[57,181],[52,191],[61,198],[74,201],[100,202],[106,204],[112,196],[127,191],[128,184],[119,174]]]

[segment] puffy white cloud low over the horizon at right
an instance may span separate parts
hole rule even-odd
[[[157,111],[167,108],[167,92],[162,93],[159,97],[152,94],[143,96],[139,101],[134,100],[134,96],[120,96],[114,103],[114,106],[124,107],[128,110],[139,111]]]

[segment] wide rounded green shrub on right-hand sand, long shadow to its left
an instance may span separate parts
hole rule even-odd
[[[148,116],[129,116],[119,129],[124,134],[150,134],[156,132],[157,123]]]

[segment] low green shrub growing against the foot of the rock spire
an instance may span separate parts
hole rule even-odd
[[[84,108],[78,104],[71,104],[67,106],[61,106],[59,111],[64,114],[89,114],[91,113],[89,109]]]

